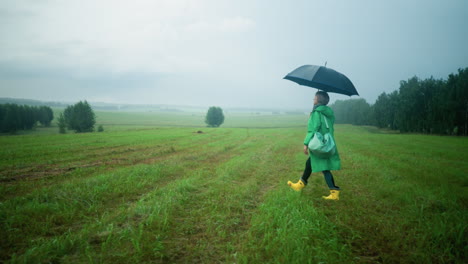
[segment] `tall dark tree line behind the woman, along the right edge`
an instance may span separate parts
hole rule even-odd
[[[371,105],[364,99],[331,105],[336,123],[373,125],[401,132],[468,135],[468,68],[446,80],[413,77]]]

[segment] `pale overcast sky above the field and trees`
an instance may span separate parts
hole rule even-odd
[[[468,67],[468,1],[0,0],[0,36],[0,97],[309,109],[304,64],[369,103]]]

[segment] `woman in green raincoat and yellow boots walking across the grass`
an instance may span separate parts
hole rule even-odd
[[[314,98],[314,110],[310,114],[309,123],[307,125],[307,135],[304,139],[304,154],[308,155],[309,158],[306,161],[304,173],[301,179],[297,183],[288,181],[288,185],[295,191],[300,191],[307,185],[307,180],[310,174],[313,172],[322,172],[325,177],[325,182],[330,189],[329,196],[323,196],[327,200],[339,200],[340,199],[340,187],[335,185],[333,179],[332,170],[339,170],[341,168],[340,156],[338,155],[338,149],[335,154],[329,158],[320,158],[309,151],[309,142],[313,138],[315,132],[322,134],[330,133],[334,134],[333,124],[335,123],[335,115],[333,110],[327,106],[330,101],[328,93],[324,91],[318,91]],[[326,127],[324,118],[327,119],[329,128]],[[334,137],[334,136],[333,136]]]

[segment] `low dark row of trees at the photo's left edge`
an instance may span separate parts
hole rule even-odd
[[[54,113],[48,106],[0,104],[0,132],[14,133],[18,130],[33,129],[39,122],[50,126]]]

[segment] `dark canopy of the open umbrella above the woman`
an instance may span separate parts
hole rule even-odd
[[[296,82],[300,85],[314,87],[325,92],[349,96],[359,95],[348,77],[324,66],[303,65],[286,75],[283,79]]]

